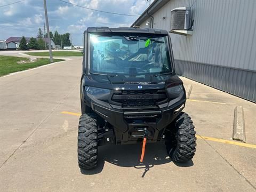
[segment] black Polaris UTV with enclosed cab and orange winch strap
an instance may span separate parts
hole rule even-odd
[[[97,166],[98,147],[165,142],[174,162],[196,151],[186,92],[166,30],[90,27],[84,32],[78,165]],[[140,147],[140,146],[134,146]],[[140,154],[138,154],[139,156]]]

